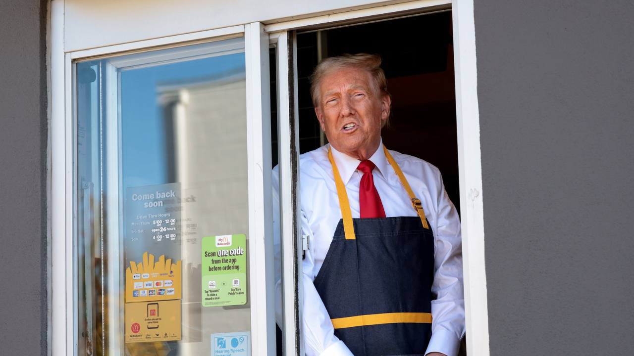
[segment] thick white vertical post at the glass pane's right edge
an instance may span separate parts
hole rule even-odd
[[[275,355],[269,36],[245,25],[252,355]]]

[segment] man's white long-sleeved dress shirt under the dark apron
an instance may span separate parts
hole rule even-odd
[[[381,146],[370,157],[376,165],[374,184],[383,203],[386,217],[417,216],[398,175],[391,167]],[[334,335],[328,311],[313,281],[321,269],[335,228],[341,219],[337,188],[332,165],[328,160],[328,144],[300,156],[300,189],[302,234],[309,236],[309,249],[303,262],[304,342],[306,355],[352,355]],[[448,356],[458,353],[465,326],[462,282],[462,241],[460,218],[444,190],[438,168],[424,160],[391,151],[415,196],[422,202],[425,215],[434,232],[434,282],[432,284],[432,338],[427,352]],[[346,185],[353,218],[359,217],[359,182],[356,170],[359,160],[332,148],[332,156]],[[275,230],[276,319],[281,326],[281,268],[279,229],[279,173],[273,169],[273,201]]]

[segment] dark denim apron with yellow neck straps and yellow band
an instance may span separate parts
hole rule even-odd
[[[401,168],[383,149],[418,216],[353,219],[328,149],[343,218],[314,286],[335,336],[355,356],[424,355],[432,335],[434,234]]]

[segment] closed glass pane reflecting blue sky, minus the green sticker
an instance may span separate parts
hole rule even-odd
[[[209,355],[250,331],[201,283],[202,238],[248,234],[243,39],[76,70],[79,355]]]

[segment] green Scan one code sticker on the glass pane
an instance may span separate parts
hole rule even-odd
[[[202,306],[247,303],[247,236],[202,238]]]

